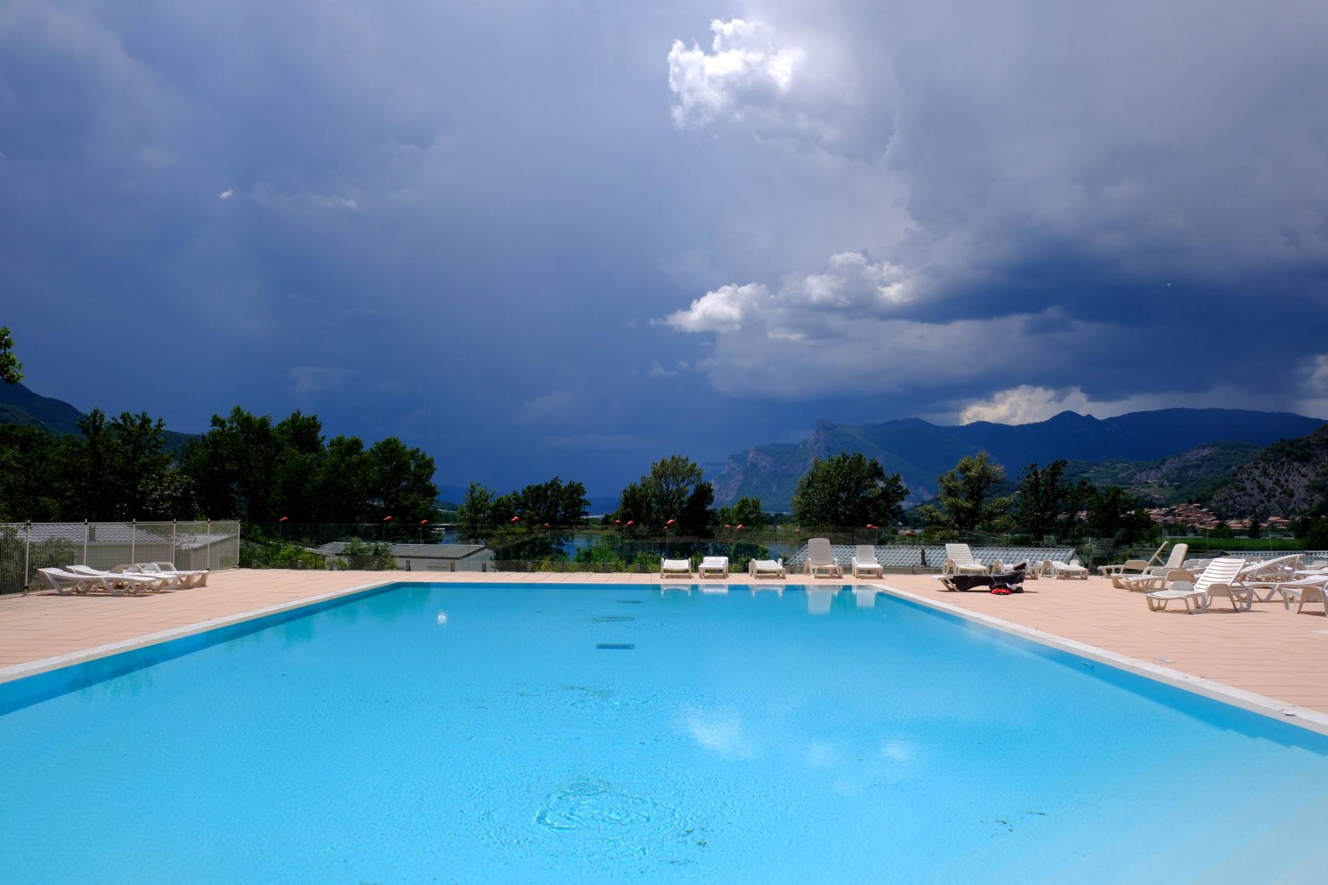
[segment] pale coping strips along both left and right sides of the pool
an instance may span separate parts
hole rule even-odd
[[[186,624],[177,628],[167,628],[165,630],[157,630],[154,633],[145,633],[142,636],[135,636],[127,640],[120,640],[117,642],[106,642],[104,645],[97,645],[88,649],[78,649],[77,651],[65,651],[62,654],[37,658],[36,661],[13,663],[7,667],[0,667],[0,685],[12,682],[15,679],[21,679],[25,677],[40,675],[50,670],[58,670],[66,666],[86,663],[89,661],[110,657],[113,654],[133,651],[135,649],[147,647],[150,645],[158,645],[162,642],[169,642],[171,640],[179,640],[189,636],[195,636],[198,633],[206,633],[208,630],[231,626],[235,624],[243,624],[246,621],[267,617],[270,614],[279,614],[283,612],[290,612],[309,605],[316,605],[319,602],[336,600],[343,596],[349,596],[352,593],[363,593],[365,590],[372,590],[398,582],[400,581],[384,580],[384,581],[371,581],[368,584],[357,584],[355,586],[348,586],[339,590],[329,590],[327,593],[300,597],[297,600],[291,600],[288,602],[278,602],[275,605],[266,605],[258,609],[236,612],[235,614],[224,614],[220,617],[208,618],[206,621],[195,621],[194,624]],[[521,581],[485,581],[485,584],[521,584]],[[1186,691],[1193,691],[1195,694],[1203,695],[1214,701],[1230,703],[1232,706],[1248,710],[1250,713],[1260,714],[1263,716],[1275,719],[1278,722],[1286,722],[1299,728],[1305,728],[1308,731],[1315,731],[1317,734],[1328,735],[1328,713],[1320,713],[1319,710],[1312,710],[1309,707],[1301,707],[1299,705],[1278,701],[1276,698],[1258,694],[1256,691],[1250,691],[1247,689],[1238,689],[1224,682],[1207,679],[1204,677],[1197,677],[1190,673],[1185,673],[1182,670],[1173,670],[1171,667],[1150,663],[1139,658],[1133,658],[1127,654],[1121,654],[1118,651],[1112,651],[1109,649],[1104,649],[1096,645],[1089,645],[1088,642],[1069,640],[1062,636],[1057,636],[1054,633],[1048,633],[1046,630],[1038,630],[1037,628],[1024,626],[1023,624],[1016,624],[1013,621],[1005,621],[1003,618],[993,617],[991,614],[973,612],[971,609],[965,609],[959,605],[952,605],[942,600],[934,600],[931,597],[919,596],[908,590],[900,590],[899,588],[890,586],[886,584],[853,585],[854,590],[866,588],[871,588],[874,590],[886,593],[888,596],[894,596],[902,600],[907,600],[910,602],[915,602],[918,605],[923,605],[936,612],[954,614],[960,618],[964,618],[965,621],[975,621],[977,624],[989,626],[1003,633],[1009,633],[1029,640],[1042,646],[1058,649],[1061,651],[1069,651],[1070,654],[1077,654],[1080,657],[1089,658],[1092,661],[1098,661],[1101,663],[1106,663],[1118,667],[1121,670],[1134,673],[1135,675],[1141,675],[1147,679],[1154,679],[1157,682],[1183,689]],[[825,589],[830,588],[826,586]]]

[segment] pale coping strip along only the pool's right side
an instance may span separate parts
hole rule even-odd
[[[942,600],[934,600],[927,596],[918,596],[916,593],[900,590],[899,588],[888,586],[886,584],[872,584],[870,586],[888,596],[916,602],[918,605],[944,612],[947,614],[955,614],[965,621],[975,621],[1003,633],[1011,633],[1017,637],[1031,640],[1038,645],[1058,649],[1061,651],[1069,651],[1070,654],[1098,661],[1147,679],[1154,679],[1177,689],[1193,691],[1194,694],[1212,701],[1230,703],[1231,706],[1248,710],[1250,713],[1256,713],[1276,722],[1284,722],[1297,728],[1305,728],[1307,731],[1328,735],[1328,713],[1320,713],[1319,710],[1279,701],[1266,694],[1259,694],[1258,691],[1238,689],[1236,686],[1227,685],[1226,682],[1218,682],[1216,679],[1197,677],[1194,674],[1185,673],[1183,670],[1173,670],[1171,667],[1150,663],[1149,661],[1133,658],[1127,654],[1112,651],[1110,649],[1104,649],[1101,646],[1089,645],[1088,642],[1080,642],[1078,640],[1068,640],[1064,636],[1048,633],[1046,630],[1038,630],[1037,628],[1024,626],[1023,624],[1016,624],[1013,621],[1005,621],[983,612],[973,612],[972,609],[952,605]]]

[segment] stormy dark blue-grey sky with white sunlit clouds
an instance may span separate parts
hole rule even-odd
[[[1328,5],[0,3],[0,324],[442,483],[817,418],[1328,417]]]

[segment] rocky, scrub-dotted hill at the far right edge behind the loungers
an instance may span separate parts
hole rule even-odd
[[[1328,426],[1264,448],[1214,492],[1211,507],[1223,516],[1328,512]]]

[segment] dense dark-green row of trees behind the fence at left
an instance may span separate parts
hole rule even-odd
[[[236,406],[171,451],[161,419],[92,410],[81,433],[0,426],[0,521],[434,517],[434,462],[394,437],[325,439],[316,415]]]

